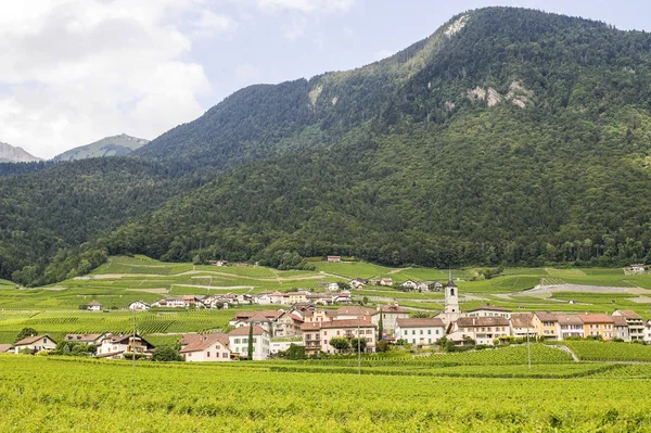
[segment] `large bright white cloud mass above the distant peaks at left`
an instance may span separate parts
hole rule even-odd
[[[204,110],[195,34],[232,31],[203,0],[30,0],[0,14],[0,141],[51,157],[104,136],[153,139]]]

